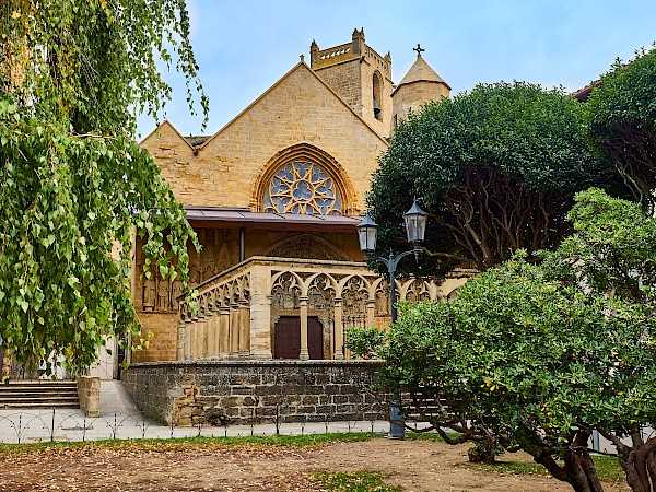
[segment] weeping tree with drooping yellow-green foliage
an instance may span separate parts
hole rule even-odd
[[[159,58],[207,116],[189,20],[183,0],[0,0],[0,38],[1,348],[83,371],[106,335],[139,332],[134,233],[147,276],[188,280],[196,236],[132,137],[171,94]]]

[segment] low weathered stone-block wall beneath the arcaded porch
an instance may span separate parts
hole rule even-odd
[[[131,364],[121,373],[145,417],[167,425],[325,422],[385,418],[366,388],[376,361]]]

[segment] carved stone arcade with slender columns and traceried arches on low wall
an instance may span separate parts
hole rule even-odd
[[[397,281],[400,301],[440,301],[465,277]],[[269,360],[280,317],[300,319],[301,350],[309,359],[308,319],[323,329],[321,356],[348,359],[344,330],[386,328],[390,321],[387,280],[364,262],[251,257],[197,286],[197,308],[179,304],[177,360]],[[314,356],[313,359],[317,359]]]

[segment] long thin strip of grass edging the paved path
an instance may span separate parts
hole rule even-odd
[[[266,435],[239,437],[173,437],[159,440],[107,440],[55,443],[0,444],[0,459],[38,453],[75,449],[125,449],[128,452],[166,453],[192,448],[224,448],[229,446],[261,445],[282,447],[314,446],[337,442],[359,442],[380,437],[376,433],[329,433],[308,435]]]

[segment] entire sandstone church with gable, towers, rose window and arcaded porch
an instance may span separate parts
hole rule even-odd
[[[154,333],[134,362],[190,359],[349,358],[343,332],[389,324],[389,285],[368,270],[355,226],[387,138],[410,109],[448,97],[421,57],[398,85],[391,57],[365,44],[319,49],[211,137],[165,121],[152,153],[202,245],[190,248],[198,309],[179,281],[142,277],[136,245],[133,302]],[[397,283],[400,300],[442,300],[462,278]]]

